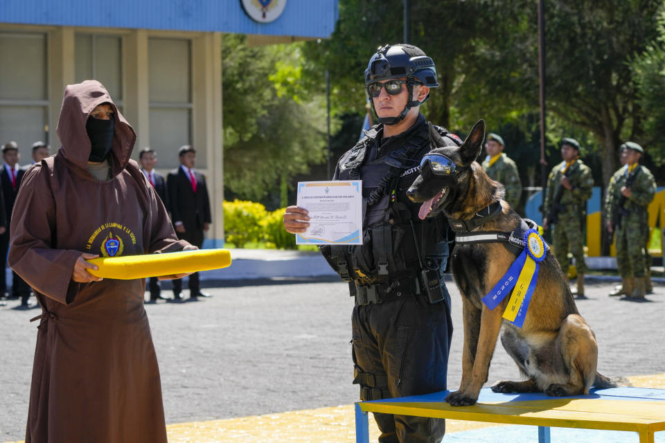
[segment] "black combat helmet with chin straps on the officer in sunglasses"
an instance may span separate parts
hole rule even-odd
[[[438,87],[438,82],[436,81],[436,68],[434,67],[432,58],[427,57],[420,48],[411,44],[383,46],[382,48],[379,48],[369,60],[369,64],[365,70],[365,85],[369,85],[373,82],[404,77],[407,78],[409,102],[407,102],[407,105],[399,116],[378,118],[379,123],[383,123],[384,125],[396,125],[404,120],[409,109],[426,102],[429,98],[429,94],[427,94],[427,97],[425,97],[425,100],[422,102],[418,100],[410,100],[413,96],[414,84],[422,83],[430,88]],[[372,111],[376,114],[374,101],[370,100],[370,104]]]

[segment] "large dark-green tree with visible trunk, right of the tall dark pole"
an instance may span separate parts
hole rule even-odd
[[[661,5],[662,0],[548,3],[548,106],[594,134],[601,145],[603,183],[617,170],[621,142],[641,134],[628,62],[653,41]]]

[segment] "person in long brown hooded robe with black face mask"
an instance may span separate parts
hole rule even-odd
[[[10,225],[10,266],[42,306],[26,443],[166,442],[145,280],[97,278],[86,260],[195,247],[130,160],[136,134],[102,84],[67,86],[57,135]]]

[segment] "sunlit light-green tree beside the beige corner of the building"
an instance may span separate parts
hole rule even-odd
[[[301,44],[254,46],[224,35],[224,185],[243,199],[280,192],[325,161],[323,91],[301,81]]]

